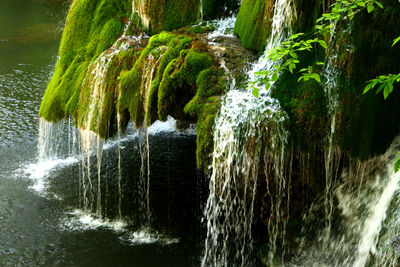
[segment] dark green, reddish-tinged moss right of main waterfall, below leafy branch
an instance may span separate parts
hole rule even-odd
[[[298,56],[301,62],[298,69],[314,65],[315,71],[322,71],[320,66],[315,65],[317,61],[324,61],[322,49],[316,50],[315,54],[305,52]],[[314,80],[298,82],[298,78],[297,73],[282,73],[272,88],[272,96],[280,101],[289,115],[295,147],[306,152],[325,141],[330,116],[323,85]]]

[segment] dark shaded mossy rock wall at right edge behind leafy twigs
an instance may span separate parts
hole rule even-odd
[[[400,28],[400,6],[390,0],[382,1],[383,10],[366,11],[355,18],[351,38],[351,55],[342,53],[340,60],[346,74],[342,79],[339,144],[351,155],[367,159],[384,153],[400,129],[400,93],[385,101],[373,92],[363,95],[366,81],[381,74],[400,72],[400,47],[392,47]]]

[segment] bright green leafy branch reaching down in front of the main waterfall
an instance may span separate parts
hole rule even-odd
[[[259,76],[256,81],[250,82],[253,95],[258,97],[259,87],[255,85],[265,85],[268,90],[278,80],[279,74],[282,71],[289,71],[294,73],[300,61],[298,53],[301,51],[312,52],[316,45],[320,45],[323,49],[327,50],[328,45],[325,42],[325,37],[335,33],[335,25],[339,21],[352,20],[354,16],[361,10],[367,8],[368,13],[372,12],[375,7],[383,8],[382,3],[377,0],[337,0],[330,8],[330,12],[323,14],[316,20],[314,29],[305,34],[297,33],[289,37],[289,40],[283,42],[271,50],[267,51],[265,60],[271,60],[273,67],[270,70],[256,72]],[[308,38],[307,38],[308,37]],[[400,41],[397,40],[396,42]],[[318,62],[317,65],[324,65]],[[317,72],[313,71],[312,66],[300,69],[297,73],[301,76],[298,81],[315,80],[321,82],[321,77]]]

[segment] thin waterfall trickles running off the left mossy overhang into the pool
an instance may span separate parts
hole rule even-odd
[[[115,41],[115,43],[107,50],[102,52],[88,67],[85,79],[82,86],[85,88],[84,99],[88,108],[80,111],[78,122],[79,129],[75,129],[71,123],[71,118],[68,119],[68,129],[65,129],[65,121],[58,123],[47,122],[40,119],[39,128],[39,159],[50,160],[65,157],[65,151],[68,151],[68,156],[80,155],[80,178],[79,178],[79,196],[81,208],[85,212],[95,212],[98,217],[103,217],[103,211],[107,207],[103,205],[102,197],[103,179],[102,179],[102,157],[103,157],[103,144],[104,140],[100,138],[95,132],[100,131],[104,121],[110,120],[110,112],[107,111],[104,101],[109,93],[117,93],[116,88],[108,88],[110,80],[109,72],[112,71],[112,64],[116,56],[121,52],[129,49],[132,45],[139,43],[143,36],[127,36],[126,33],[129,29],[131,22],[125,25],[123,34]],[[160,56],[161,57],[161,56]],[[147,88],[145,93],[150,88],[153,79],[153,72],[155,65],[158,64],[160,57],[155,57],[155,60],[149,60],[144,78],[142,79],[143,87]],[[146,103],[145,103],[146,104]],[[145,107],[146,108],[146,107]],[[117,116],[118,127],[118,217],[122,218],[122,175],[121,175],[121,123],[120,118]],[[107,122],[106,122],[107,123]],[[108,125],[107,125],[108,126]],[[66,140],[67,139],[67,140]],[[71,142],[72,141],[72,142]],[[72,147],[71,147],[72,144]],[[147,139],[148,147],[148,139]],[[146,150],[148,151],[148,149]],[[147,155],[148,152],[147,152]],[[149,160],[146,161],[149,165]],[[95,165],[95,167],[94,167]],[[96,179],[92,177],[96,175]],[[147,173],[147,180],[149,180],[149,168]],[[147,183],[148,184],[148,183]],[[146,191],[148,192],[148,185]],[[107,187],[107,185],[106,185]],[[106,188],[107,190],[107,188]],[[144,195],[144,203],[146,203],[147,210],[149,210],[148,193]],[[147,199],[147,200],[145,200]],[[149,212],[146,212],[149,214]],[[146,218],[149,215],[145,216]]]

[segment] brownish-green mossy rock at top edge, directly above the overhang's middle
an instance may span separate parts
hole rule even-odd
[[[201,17],[199,0],[134,0],[132,12],[150,34],[193,25]]]

